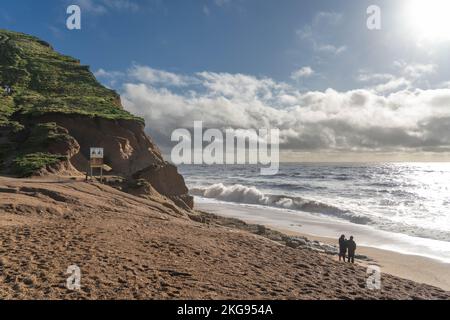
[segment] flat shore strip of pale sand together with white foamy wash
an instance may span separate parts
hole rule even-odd
[[[208,203],[197,201],[197,208],[212,212],[221,216],[242,219],[248,223],[262,224],[273,230],[294,236],[304,236],[308,239],[317,240],[322,243],[336,245],[337,238],[341,233],[347,235],[355,234],[359,239],[367,244],[372,242],[373,245],[358,246],[358,254],[370,257],[373,262],[357,261],[358,264],[367,266],[368,264],[376,264],[381,267],[382,273],[392,274],[405,279],[413,280],[419,283],[426,283],[440,287],[444,290],[450,290],[450,264],[442,260],[433,259],[424,255],[402,254],[393,250],[380,249],[376,246],[390,245],[411,252],[412,248],[401,243],[398,238],[393,239],[395,243],[387,244],[389,241],[387,236],[382,237],[383,233],[374,233],[373,230],[366,230],[364,227],[350,225],[348,223],[337,223],[334,221],[324,221],[323,219],[312,217],[310,215],[295,215],[295,219],[291,217],[294,223],[281,221],[273,209],[260,208],[255,206],[237,206],[226,203]],[[275,216],[274,216],[275,215]],[[292,222],[291,221],[291,222]],[[336,239],[331,235],[335,234]],[[372,238],[370,238],[372,237]],[[384,242],[384,243],[383,243]],[[402,247],[403,245],[403,247]],[[337,257],[334,257],[338,260]]]

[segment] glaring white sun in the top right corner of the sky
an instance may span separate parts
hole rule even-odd
[[[423,41],[450,41],[450,0],[408,0],[410,31]]]

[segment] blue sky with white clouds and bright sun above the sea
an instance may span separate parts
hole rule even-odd
[[[279,128],[284,161],[450,161],[448,14],[446,0],[21,0],[2,2],[0,28],[89,65],[166,153],[201,120]]]

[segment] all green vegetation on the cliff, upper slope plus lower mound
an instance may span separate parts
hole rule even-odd
[[[0,29],[0,173],[32,175],[67,159],[75,139],[37,120],[51,114],[143,123],[88,66],[36,37]]]

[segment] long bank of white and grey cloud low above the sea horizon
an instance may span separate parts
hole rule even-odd
[[[150,68],[151,69],[151,68]],[[300,92],[270,78],[201,72],[196,84],[156,87],[127,82],[127,110],[168,148],[176,128],[281,130],[282,150],[302,152],[443,152],[450,150],[450,89],[401,89],[388,95],[358,89]],[[136,78],[137,79],[137,78]],[[392,85],[392,88],[396,87]]]

